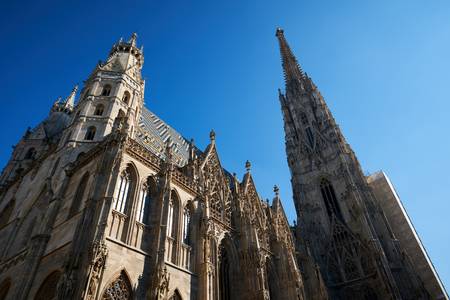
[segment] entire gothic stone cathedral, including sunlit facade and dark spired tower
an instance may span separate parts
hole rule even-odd
[[[214,131],[199,149],[144,106],[133,34],[14,147],[0,300],[448,299],[389,179],[364,176],[276,36],[296,225],[250,162],[241,178],[222,166]]]

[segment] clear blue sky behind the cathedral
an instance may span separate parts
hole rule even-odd
[[[364,171],[390,176],[450,287],[450,2],[243,2],[2,1],[0,164],[136,31],[147,107],[201,148],[214,128],[223,165],[241,177],[249,159],[259,193],[272,198],[278,184],[293,220],[281,26]]]

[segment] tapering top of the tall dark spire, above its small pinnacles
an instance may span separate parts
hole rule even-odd
[[[291,51],[286,39],[284,38],[284,31],[281,28],[277,28],[275,36],[278,38],[280,45],[281,59],[283,62],[284,80],[286,82],[286,89],[293,88],[300,85],[303,87],[303,81],[305,74],[303,73],[297,59]]]

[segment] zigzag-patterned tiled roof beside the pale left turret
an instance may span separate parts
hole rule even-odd
[[[165,159],[165,145],[171,140],[174,162],[182,167],[189,160],[189,142],[157,115],[143,107],[136,140],[152,153]]]

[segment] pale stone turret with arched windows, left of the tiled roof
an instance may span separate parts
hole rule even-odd
[[[100,62],[85,82],[67,141],[90,144],[101,141],[115,126],[117,118],[127,120],[133,137],[144,104],[143,48],[137,35],[115,43],[105,62]],[[126,118],[123,118],[126,117]]]

